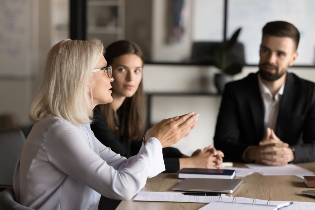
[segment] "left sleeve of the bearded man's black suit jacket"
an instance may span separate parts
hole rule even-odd
[[[214,145],[224,153],[225,159],[243,162],[244,151],[253,144],[239,140],[241,122],[234,86],[233,83],[225,86],[215,128]]]

